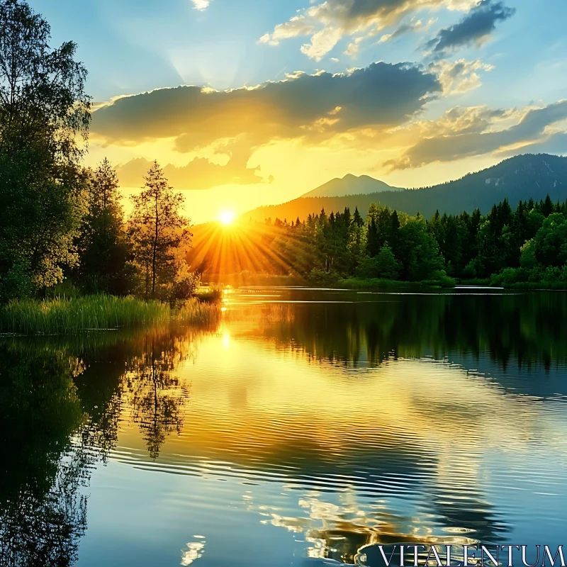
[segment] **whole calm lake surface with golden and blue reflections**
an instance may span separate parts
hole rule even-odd
[[[565,544],[567,295],[231,293],[218,325],[0,339],[0,565],[378,565]]]

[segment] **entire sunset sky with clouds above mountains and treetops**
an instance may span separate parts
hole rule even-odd
[[[90,165],[157,159],[193,223],[334,177],[430,186],[567,152],[565,0],[30,0],[74,40]]]

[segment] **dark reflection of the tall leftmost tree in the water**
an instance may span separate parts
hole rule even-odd
[[[87,418],[61,352],[0,348],[0,565],[67,566],[86,529],[80,486],[91,451],[70,439]]]

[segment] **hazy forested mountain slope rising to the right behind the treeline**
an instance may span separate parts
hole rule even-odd
[[[488,213],[495,203],[504,198],[514,208],[520,200],[533,198],[539,201],[548,193],[553,201],[566,200],[567,157],[519,155],[481,172],[433,187],[342,197],[301,197],[281,205],[254,209],[242,217],[257,221],[266,218],[290,221],[297,217],[304,220],[308,214],[318,213],[322,208],[330,213],[345,207],[351,211],[358,207],[364,216],[371,203],[381,203],[410,215],[421,213],[430,218],[436,210],[440,213],[467,210],[470,213],[480,208],[482,213]]]

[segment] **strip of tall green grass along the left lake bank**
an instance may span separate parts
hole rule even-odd
[[[167,303],[133,297],[86,296],[43,301],[11,301],[0,308],[0,332],[18,335],[68,335],[155,323],[210,320],[217,308],[196,299],[173,309]]]

